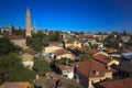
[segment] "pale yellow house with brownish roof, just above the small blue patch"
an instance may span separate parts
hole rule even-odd
[[[62,50],[63,48],[63,44],[58,43],[58,42],[51,42],[48,46],[43,48],[43,53],[45,54],[50,54],[50,53],[54,53],[57,50]]]

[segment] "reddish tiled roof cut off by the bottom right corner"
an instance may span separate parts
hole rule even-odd
[[[99,82],[97,88],[132,88],[132,78]]]

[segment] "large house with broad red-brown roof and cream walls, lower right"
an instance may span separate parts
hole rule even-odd
[[[94,88],[92,84],[105,79],[112,79],[112,74],[116,70],[95,59],[79,62],[77,67],[77,79],[84,88]]]

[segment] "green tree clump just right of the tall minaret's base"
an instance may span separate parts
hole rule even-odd
[[[46,35],[38,31],[37,34],[33,33],[32,37],[26,37],[26,44],[37,52],[42,50],[42,46],[47,46],[50,42],[63,42],[59,32]]]

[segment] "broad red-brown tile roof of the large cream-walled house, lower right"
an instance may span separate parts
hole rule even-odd
[[[86,77],[96,77],[95,72],[99,72],[99,77],[105,76],[105,73],[108,72],[114,72],[112,68],[108,70],[106,65],[95,61],[95,59],[87,59],[84,62],[80,62],[78,64],[78,72],[82,74]]]

